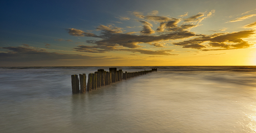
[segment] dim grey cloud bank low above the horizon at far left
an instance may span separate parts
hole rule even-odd
[[[45,49],[34,47],[2,47],[2,49],[7,51],[0,52],[0,61],[7,62],[90,60],[95,58],[91,56],[47,52]]]

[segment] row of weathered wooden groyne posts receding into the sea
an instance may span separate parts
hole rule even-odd
[[[157,68],[140,72],[123,72],[122,70],[117,71],[116,68],[109,68],[109,72],[106,72],[104,69],[99,69],[95,73],[88,74],[87,86],[85,73],[79,74],[79,79],[78,75],[71,75],[72,93],[85,93],[86,91],[97,90],[97,88],[100,88],[101,86],[111,85],[115,82],[156,71]]]

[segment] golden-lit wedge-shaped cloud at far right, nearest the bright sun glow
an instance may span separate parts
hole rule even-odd
[[[183,48],[194,48],[203,51],[210,51],[210,50],[233,50],[239,48],[248,48],[252,46],[247,41],[244,41],[243,38],[249,38],[251,35],[254,35],[255,31],[240,31],[240,32],[233,32],[233,33],[215,33],[213,35],[198,38],[193,38],[188,41],[183,42],[176,42],[173,43],[174,45],[183,46]],[[209,42],[208,49],[206,48],[203,43]],[[219,47],[219,49],[209,49],[213,47]]]

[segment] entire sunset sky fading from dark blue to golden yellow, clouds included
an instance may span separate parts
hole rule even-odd
[[[255,0],[0,2],[0,66],[254,66]]]

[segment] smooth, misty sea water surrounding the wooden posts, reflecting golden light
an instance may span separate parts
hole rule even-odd
[[[1,67],[0,132],[256,132],[256,67],[156,67],[72,95],[99,68]]]

